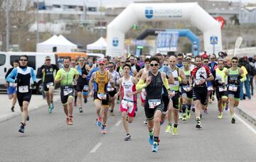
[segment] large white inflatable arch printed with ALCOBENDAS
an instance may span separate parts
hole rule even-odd
[[[130,4],[107,25],[109,56],[124,54],[124,35],[139,21],[191,21],[203,32],[204,50],[215,54],[222,50],[220,24],[197,3]],[[214,44],[214,45],[213,45]]]

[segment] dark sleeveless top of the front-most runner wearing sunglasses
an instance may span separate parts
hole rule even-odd
[[[149,71],[149,76],[152,76],[151,83],[149,86],[146,86],[146,100],[150,99],[161,99],[161,94],[163,90],[164,82],[161,79],[161,73],[158,72],[156,76],[154,76],[151,71]]]

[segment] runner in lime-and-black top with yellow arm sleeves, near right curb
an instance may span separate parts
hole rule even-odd
[[[238,67],[238,57],[233,57],[231,59],[231,67],[225,71],[225,76],[223,77],[223,82],[225,82],[228,76],[228,100],[230,108],[230,118],[231,123],[235,124],[235,109],[234,106],[238,106],[240,97],[240,82],[246,80],[246,76],[242,69]]]

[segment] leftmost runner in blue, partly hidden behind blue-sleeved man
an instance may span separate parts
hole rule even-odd
[[[18,67],[18,59],[14,60],[13,65],[14,66],[7,71],[5,79],[7,78],[7,76],[9,76],[9,74],[11,73],[11,71],[14,68]],[[7,84],[8,98],[9,98],[9,100],[13,100],[12,101],[12,105],[11,105],[11,112],[14,112],[14,106],[15,106],[15,104],[17,102],[17,94],[16,94],[16,86],[17,86],[17,84],[16,83],[9,83],[9,82],[6,82],[6,84]]]

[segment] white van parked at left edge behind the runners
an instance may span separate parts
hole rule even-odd
[[[12,67],[12,64],[15,59],[23,54],[28,56],[28,66],[31,66],[36,75],[38,68],[45,64],[46,56],[49,56],[51,59],[51,64],[56,64],[56,56],[54,53],[47,52],[0,52],[0,90],[6,90],[4,84],[6,83],[5,75],[8,69]],[[41,79],[36,79],[37,86],[32,87],[33,90],[36,90],[36,93],[41,93],[42,83]]]

